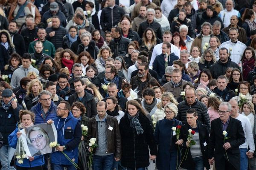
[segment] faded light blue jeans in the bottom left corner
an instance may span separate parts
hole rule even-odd
[[[3,145],[3,147],[0,149],[0,161],[2,164],[1,170],[15,170],[14,167],[10,167],[10,162],[12,160],[12,157],[14,156],[14,153],[14,148],[8,145]]]

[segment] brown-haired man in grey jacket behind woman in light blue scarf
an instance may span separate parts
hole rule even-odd
[[[80,30],[81,28],[85,28],[86,31],[89,31],[90,33],[92,33],[92,31],[95,30],[93,24],[89,23],[88,20],[84,19],[83,14],[75,14],[74,21],[77,25],[78,30]]]

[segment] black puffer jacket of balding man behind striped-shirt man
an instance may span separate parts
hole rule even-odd
[[[207,126],[208,130],[210,131],[211,129],[211,123],[210,123],[210,118],[209,114],[207,113],[207,107],[204,105],[204,103],[199,102],[198,99],[195,100],[195,103],[191,106],[185,101],[180,102],[177,105],[178,108],[178,114],[177,114],[177,119],[180,120],[183,124],[186,124],[186,112],[190,109],[193,108],[198,112],[198,121],[203,123],[204,125]]]

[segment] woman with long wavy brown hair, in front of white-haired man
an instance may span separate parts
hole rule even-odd
[[[142,39],[138,41],[140,45],[140,51],[147,51],[148,56],[148,62],[151,59],[151,55],[153,52],[153,48],[155,45],[160,44],[161,40],[157,39],[155,32],[152,28],[146,28],[146,30],[143,33]]]

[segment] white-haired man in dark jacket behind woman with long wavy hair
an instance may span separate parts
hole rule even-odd
[[[159,23],[154,21],[154,15],[155,11],[152,8],[149,8],[147,10],[147,20],[143,21],[140,23],[139,29],[138,29],[138,34],[140,38],[142,38],[142,35],[146,28],[152,28],[155,32],[155,35],[157,38],[161,39],[162,38],[162,28]]]

